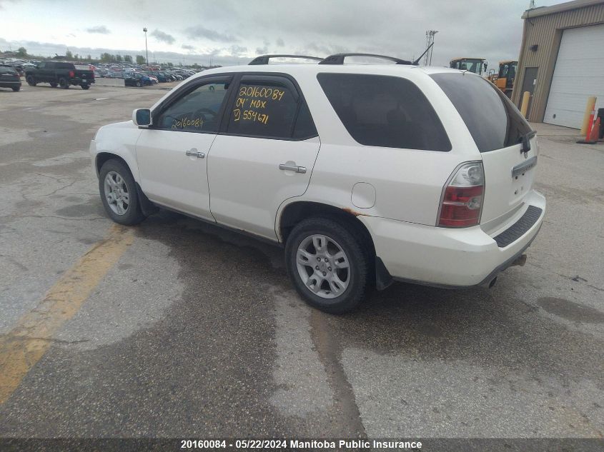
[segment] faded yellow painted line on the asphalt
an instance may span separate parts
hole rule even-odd
[[[69,268],[36,308],[25,313],[9,333],[0,336],[0,403],[11,396],[44,356],[56,331],[79,311],[133,241],[131,228],[112,226],[107,238]]]

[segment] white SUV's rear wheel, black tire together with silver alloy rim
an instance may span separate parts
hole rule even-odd
[[[312,218],[297,224],[287,238],[285,264],[297,292],[321,311],[352,311],[365,293],[367,256],[337,221]]]

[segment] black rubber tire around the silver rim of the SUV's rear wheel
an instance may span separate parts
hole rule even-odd
[[[335,298],[322,298],[313,293],[307,287],[306,281],[302,281],[297,268],[299,246],[302,241],[315,234],[326,236],[330,241],[337,242],[347,256],[349,267],[346,275],[350,279],[347,279],[345,290]],[[332,219],[311,218],[301,221],[289,234],[285,246],[285,266],[296,291],[310,306],[332,314],[350,312],[362,301],[367,288],[367,261],[367,253],[363,251],[360,238],[355,237],[345,226]],[[309,276],[312,277],[312,275]]]

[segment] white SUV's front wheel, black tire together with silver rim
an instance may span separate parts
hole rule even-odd
[[[106,161],[99,171],[99,191],[109,217],[131,226],[144,220],[137,186],[126,165],[118,160]]]

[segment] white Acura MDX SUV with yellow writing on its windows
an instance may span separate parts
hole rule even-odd
[[[535,133],[489,81],[399,64],[222,67],[91,141],[107,214],[157,206],[281,243],[343,313],[392,280],[492,285],[543,221]],[[257,64],[260,63],[260,64]]]

